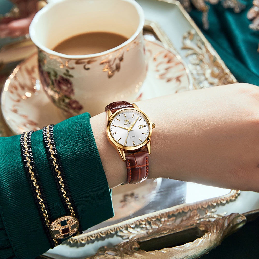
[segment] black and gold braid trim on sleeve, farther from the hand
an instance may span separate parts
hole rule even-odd
[[[31,190],[34,197],[34,202],[37,205],[40,219],[47,235],[47,238],[51,244],[51,248],[55,247],[59,242],[51,236],[49,232],[49,226],[52,222],[51,213],[49,211],[44,192],[39,180],[37,170],[35,168],[35,163],[32,156],[31,149],[31,134],[33,131],[27,131],[21,134],[20,145],[21,145],[21,155],[23,159],[24,169],[26,176],[31,185]]]

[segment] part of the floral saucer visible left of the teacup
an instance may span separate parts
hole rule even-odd
[[[20,63],[6,80],[1,96],[3,117],[15,134],[40,130],[64,120],[45,95],[39,80],[37,53]]]

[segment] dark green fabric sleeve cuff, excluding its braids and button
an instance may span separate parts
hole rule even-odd
[[[93,138],[89,114],[54,126],[71,197],[83,229],[113,217],[111,194]],[[65,215],[47,161],[42,131],[31,137],[34,162],[55,219]],[[44,234],[20,152],[20,136],[0,138],[0,258],[34,259],[50,249]]]

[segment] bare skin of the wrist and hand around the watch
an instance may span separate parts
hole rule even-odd
[[[136,103],[156,125],[149,177],[259,191],[258,91],[228,85]],[[125,163],[106,138],[106,114],[90,122],[109,186],[123,183]]]

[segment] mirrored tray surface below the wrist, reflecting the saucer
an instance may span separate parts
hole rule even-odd
[[[121,185],[112,190],[115,216],[85,233],[185,203],[227,195],[229,189],[186,183],[172,179],[148,179],[138,185]]]

